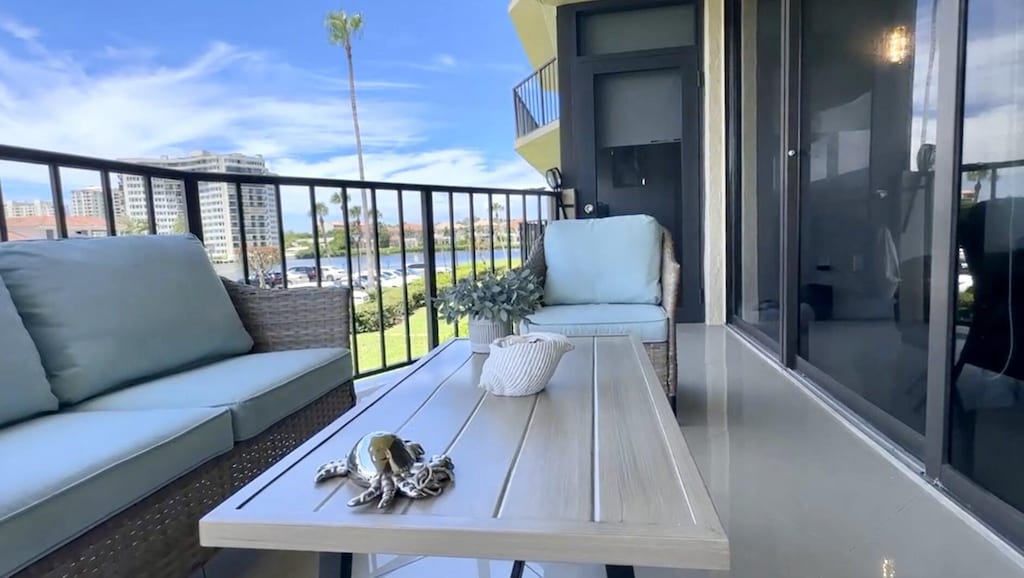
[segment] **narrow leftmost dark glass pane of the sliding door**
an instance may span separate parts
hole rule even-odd
[[[734,311],[779,340],[781,288],[782,43],[781,0],[741,8],[741,198]]]

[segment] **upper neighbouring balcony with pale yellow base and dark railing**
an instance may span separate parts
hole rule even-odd
[[[558,61],[550,60],[512,90],[515,150],[538,171],[559,166]]]

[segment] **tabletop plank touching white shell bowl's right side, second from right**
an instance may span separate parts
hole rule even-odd
[[[499,518],[593,520],[594,340],[572,344],[538,395]]]

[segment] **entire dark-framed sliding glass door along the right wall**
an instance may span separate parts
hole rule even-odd
[[[732,323],[1024,546],[1024,0],[732,9]]]

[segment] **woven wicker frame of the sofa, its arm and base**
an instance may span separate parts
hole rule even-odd
[[[349,347],[349,291],[260,289],[223,280],[253,353]],[[215,552],[199,520],[355,404],[352,380],[174,480],[16,573],[17,578],[183,578]]]

